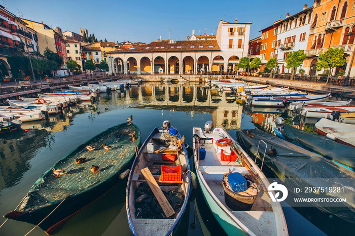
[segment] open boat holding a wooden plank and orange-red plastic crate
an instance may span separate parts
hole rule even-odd
[[[179,133],[176,135],[176,139],[182,139]],[[185,145],[182,145],[180,150],[168,149],[170,143],[168,141],[173,140],[170,137],[167,131],[160,130],[158,127],[154,128],[139,149],[137,158],[133,162],[126,190],[128,224],[133,235],[173,235],[187,207],[191,185],[188,153]],[[164,154],[175,154],[176,157],[166,161],[163,160]],[[165,169],[175,173],[169,174]],[[160,171],[161,174],[158,174]],[[146,185],[147,183],[149,186]],[[163,212],[158,216],[157,213],[152,217],[141,212],[139,202],[143,203],[150,198],[138,194],[139,189],[144,187],[147,191],[143,191],[143,194],[153,191],[161,209],[163,209]],[[179,204],[170,205],[171,203],[165,198],[162,190],[168,192],[168,195],[176,197],[180,195],[181,201]],[[142,197],[145,198],[141,199]],[[177,207],[175,207],[176,205]],[[174,206],[174,209],[172,206]]]

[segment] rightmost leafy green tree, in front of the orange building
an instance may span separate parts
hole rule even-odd
[[[319,54],[318,62],[317,62],[317,71],[321,70],[322,68],[329,69],[328,78],[327,78],[327,85],[329,83],[329,77],[332,71],[332,68],[337,66],[342,66],[345,63],[344,56],[344,49],[343,48],[330,48],[325,53]]]

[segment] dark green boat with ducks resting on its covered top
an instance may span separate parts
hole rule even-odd
[[[140,131],[134,124],[120,124],[98,134],[46,171],[33,184],[19,210],[4,217],[38,225],[47,234],[54,234],[70,217],[109,191],[121,173],[128,172],[139,142]],[[106,151],[104,143],[113,148]],[[89,145],[95,149],[88,152]],[[58,169],[65,173],[56,177]]]

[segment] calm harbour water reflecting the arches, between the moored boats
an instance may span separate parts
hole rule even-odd
[[[101,113],[97,114],[98,111]],[[125,122],[130,115],[140,129],[142,140],[154,127],[161,127],[163,121],[169,120],[191,145],[192,127],[203,127],[206,121],[214,121],[215,127],[223,125],[235,138],[238,129],[257,127],[271,131],[279,114],[245,109],[234,95],[210,91],[199,84],[149,83],[100,95],[99,101],[83,102],[64,114],[51,115],[50,121],[24,123],[22,128],[28,132],[0,138],[0,215],[14,210],[32,184],[58,160],[91,137]],[[127,179],[120,181],[67,221],[57,235],[130,235],[125,209],[126,184]],[[290,235],[337,235],[348,232],[343,227],[354,228],[313,208],[283,206],[283,211]],[[4,221],[1,218],[0,224]],[[25,235],[33,227],[8,220],[0,235]],[[36,228],[29,235],[47,234]],[[198,189],[191,193],[177,235],[224,235]]]

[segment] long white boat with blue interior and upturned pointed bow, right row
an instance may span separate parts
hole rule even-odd
[[[253,106],[285,107],[289,102],[325,102],[331,95],[306,95],[306,96],[278,96],[278,97],[253,97]],[[286,100],[286,102],[283,102]],[[284,104],[285,103],[285,104]]]

